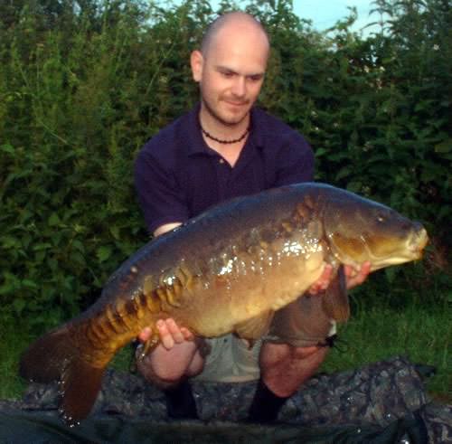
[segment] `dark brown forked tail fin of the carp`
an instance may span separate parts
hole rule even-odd
[[[62,326],[43,335],[25,351],[19,364],[19,373],[29,381],[60,381],[60,412],[70,424],[88,416],[105,372],[105,366],[94,367],[83,359],[71,333]]]

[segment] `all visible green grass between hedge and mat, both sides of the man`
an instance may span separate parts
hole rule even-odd
[[[428,307],[408,303],[405,307],[367,304],[354,310],[351,320],[340,328],[346,352],[332,350],[322,371],[332,373],[357,368],[388,359],[396,354],[411,362],[433,365],[436,375],[428,378],[428,393],[432,399],[452,402],[452,363],[450,339],[452,325],[445,307]],[[24,323],[26,325],[26,323]],[[0,399],[19,398],[25,383],[17,375],[20,354],[33,340],[22,326],[5,322],[0,331]],[[127,370],[130,348],[118,354],[113,366]]]

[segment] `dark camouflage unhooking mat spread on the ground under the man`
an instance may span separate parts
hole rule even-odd
[[[452,443],[452,406],[428,402],[431,367],[404,358],[318,374],[292,396],[278,423],[243,422],[255,383],[193,383],[200,420],[168,420],[163,393],[109,370],[89,418],[58,418],[56,385],[32,384],[0,401],[1,443]]]

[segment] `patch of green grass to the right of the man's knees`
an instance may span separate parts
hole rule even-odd
[[[446,307],[445,307],[446,308]],[[441,307],[362,307],[339,330],[346,352],[332,350],[323,370],[331,373],[406,356],[415,364],[428,364],[436,374],[427,380],[429,396],[452,402],[450,312]]]

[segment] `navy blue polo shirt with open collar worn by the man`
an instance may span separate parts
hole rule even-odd
[[[151,233],[232,197],[313,180],[311,147],[278,118],[251,110],[250,135],[231,167],[204,142],[199,109],[163,128],[138,153],[135,184]]]

